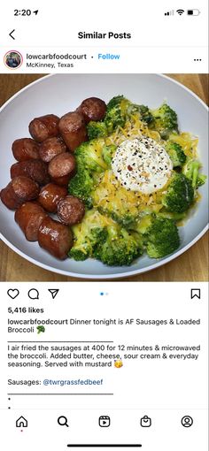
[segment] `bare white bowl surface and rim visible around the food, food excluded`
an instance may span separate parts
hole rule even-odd
[[[0,189],[10,180],[12,141],[29,136],[28,124],[44,114],[62,116],[74,109],[81,101],[97,96],[108,101],[112,96],[123,94],[134,103],[158,107],[163,100],[178,114],[180,130],[199,137],[199,157],[203,172],[207,172],[208,125],[207,107],[197,96],[181,84],[163,75],[155,74],[61,74],[43,77],[19,91],[0,110]],[[64,262],[50,256],[37,242],[28,242],[14,222],[14,213],[0,203],[0,229],[3,241],[28,261],[44,269],[86,279],[114,279],[150,271],[180,256],[190,248],[207,228],[207,190],[200,188],[202,200],[197,204],[186,225],[180,227],[181,247],[171,256],[154,260],[142,256],[128,267],[108,267],[96,260]]]

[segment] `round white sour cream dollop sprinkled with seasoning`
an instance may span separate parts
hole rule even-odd
[[[162,189],[172,169],[166,149],[144,136],[123,141],[112,158],[112,172],[120,184],[146,195]]]

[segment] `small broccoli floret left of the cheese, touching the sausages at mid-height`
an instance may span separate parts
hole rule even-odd
[[[74,178],[69,181],[68,192],[70,195],[79,197],[86,207],[90,209],[92,207],[91,191],[94,186],[94,180],[89,175],[86,169],[83,169],[81,164],[77,167],[77,173]]]

